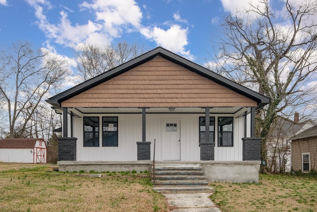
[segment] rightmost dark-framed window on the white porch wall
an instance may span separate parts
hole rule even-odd
[[[218,146],[233,146],[233,117],[218,117]]]

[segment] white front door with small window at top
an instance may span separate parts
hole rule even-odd
[[[180,160],[180,120],[162,120],[162,159]]]

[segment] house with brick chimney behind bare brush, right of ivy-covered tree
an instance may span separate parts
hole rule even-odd
[[[294,120],[278,117],[267,139],[267,165],[272,172],[291,170],[290,138],[314,126],[312,120],[299,121],[299,113],[294,113]]]

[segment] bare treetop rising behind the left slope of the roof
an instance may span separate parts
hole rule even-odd
[[[119,66],[144,52],[143,47],[126,42],[116,47],[83,45],[74,50],[77,67],[83,80],[93,78]]]

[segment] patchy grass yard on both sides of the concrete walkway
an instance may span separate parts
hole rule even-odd
[[[167,212],[148,173],[54,172],[0,163],[0,212]],[[260,175],[259,184],[210,183],[222,212],[316,212],[317,178]]]

